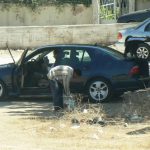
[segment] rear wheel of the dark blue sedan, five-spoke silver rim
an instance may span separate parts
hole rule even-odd
[[[87,84],[87,94],[93,103],[106,102],[112,96],[111,84],[104,78],[96,78]]]

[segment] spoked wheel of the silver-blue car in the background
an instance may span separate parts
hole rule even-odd
[[[139,59],[149,59],[150,46],[148,46],[147,44],[139,44],[136,50],[136,57]]]

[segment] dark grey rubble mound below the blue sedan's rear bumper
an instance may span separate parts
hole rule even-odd
[[[150,119],[150,88],[123,94],[122,115],[127,121],[142,122]]]

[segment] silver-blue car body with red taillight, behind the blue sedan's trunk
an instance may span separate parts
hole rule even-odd
[[[129,37],[150,37],[150,18],[134,27],[120,30],[117,36],[118,41],[115,43],[116,49],[124,53],[125,42]]]

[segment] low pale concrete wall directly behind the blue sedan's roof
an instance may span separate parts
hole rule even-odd
[[[0,27],[0,49],[37,47],[45,44],[113,43],[117,32],[132,24]]]

